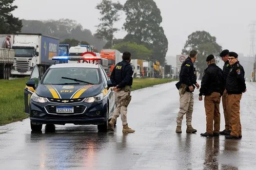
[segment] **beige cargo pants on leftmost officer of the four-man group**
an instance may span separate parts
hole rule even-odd
[[[187,125],[191,125],[192,121],[192,112],[194,105],[194,96],[193,92],[186,91],[184,94],[181,94],[181,88],[178,90],[179,92],[179,112],[177,115],[177,126],[181,126],[183,116],[186,114]]]

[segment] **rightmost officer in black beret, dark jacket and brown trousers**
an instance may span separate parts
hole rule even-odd
[[[226,80],[226,90],[228,93],[228,109],[232,131],[226,138],[241,138],[242,126],[240,122],[240,100],[242,93],[246,92],[244,79],[244,69],[237,61],[237,53],[229,52],[229,64],[231,65],[229,74]]]

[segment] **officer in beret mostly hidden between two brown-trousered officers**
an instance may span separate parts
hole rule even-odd
[[[229,70],[231,68],[231,65],[229,64],[229,51],[223,50],[220,52],[219,56],[221,57],[222,61],[224,62],[223,66],[223,73],[224,73],[224,81],[226,85],[226,79],[229,73]],[[229,135],[232,127],[230,122],[230,114],[228,111],[228,98],[227,98],[227,90],[225,89],[222,95],[222,106],[223,106],[223,112],[224,112],[224,119],[225,119],[225,129],[221,132],[219,132],[220,135]]]

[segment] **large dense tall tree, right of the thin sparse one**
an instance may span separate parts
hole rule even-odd
[[[124,41],[142,44],[153,51],[153,58],[161,64],[165,62],[168,40],[160,26],[160,9],[154,0],[127,0],[124,4],[126,14],[123,25],[127,35]]]

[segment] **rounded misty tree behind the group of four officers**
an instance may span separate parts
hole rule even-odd
[[[199,79],[201,80],[203,71],[207,67],[207,56],[210,54],[218,56],[222,51],[222,47],[217,44],[215,36],[211,36],[206,31],[196,31],[188,36],[182,54],[188,55],[191,50],[196,50],[198,53],[197,70],[199,71]]]

